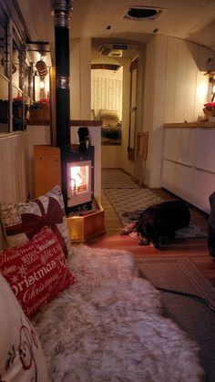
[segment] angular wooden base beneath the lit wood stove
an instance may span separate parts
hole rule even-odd
[[[102,233],[105,233],[104,210],[97,202],[99,211],[86,216],[67,217],[68,232],[71,242],[87,242]]]

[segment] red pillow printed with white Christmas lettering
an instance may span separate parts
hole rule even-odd
[[[27,316],[34,315],[76,278],[55,234],[44,227],[27,244],[0,252],[0,272]]]

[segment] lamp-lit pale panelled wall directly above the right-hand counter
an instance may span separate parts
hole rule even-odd
[[[164,99],[164,122],[193,122],[207,102],[209,77],[205,76],[211,52],[203,46],[169,37]]]

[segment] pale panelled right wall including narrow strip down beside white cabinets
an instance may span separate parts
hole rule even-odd
[[[210,49],[179,38],[155,36],[148,42],[143,126],[149,131],[145,183],[160,187],[163,124],[202,116],[209,77],[204,76]]]

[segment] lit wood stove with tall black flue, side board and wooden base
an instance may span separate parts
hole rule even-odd
[[[105,232],[104,211],[94,199],[95,148],[89,145],[87,129],[92,121],[70,122],[68,15],[72,1],[52,0],[51,4],[56,35],[56,130],[51,130],[51,146],[35,150],[36,196],[42,194],[42,188],[45,193],[54,184],[61,185],[69,238],[85,242]],[[71,144],[70,123],[76,129],[84,124],[78,129],[79,146]],[[97,187],[95,194],[98,196]]]

